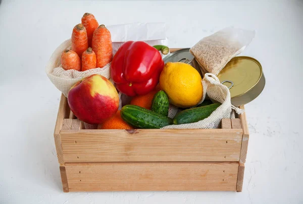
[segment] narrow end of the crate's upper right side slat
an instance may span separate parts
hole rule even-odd
[[[239,108],[245,110],[244,106],[240,106]],[[248,126],[247,126],[245,112],[243,114],[240,114],[238,117],[239,117],[239,119],[241,121],[241,126],[242,126],[242,129],[243,129],[243,138],[242,138],[240,162],[241,163],[245,163],[245,161],[246,161],[246,155],[247,155],[249,131],[248,131]]]

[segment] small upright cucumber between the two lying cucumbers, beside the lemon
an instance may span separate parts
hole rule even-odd
[[[159,113],[163,116],[168,116],[169,101],[164,91],[159,91],[155,94],[151,101],[151,111]]]

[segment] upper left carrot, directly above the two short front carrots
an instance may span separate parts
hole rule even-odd
[[[85,27],[80,23],[76,25],[72,33],[72,50],[74,50],[78,56],[82,57],[82,53],[88,48],[88,41]]]

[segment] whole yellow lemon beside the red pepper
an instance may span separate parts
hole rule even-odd
[[[168,62],[160,75],[160,86],[170,103],[180,108],[198,104],[203,87],[201,76],[192,66],[181,62]]]

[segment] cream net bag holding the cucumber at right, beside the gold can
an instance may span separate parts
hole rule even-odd
[[[217,108],[208,118],[200,120],[196,123],[188,123],[181,125],[168,125],[162,129],[216,129],[220,127],[222,118],[234,118],[235,110],[237,114],[242,114],[243,110],[231,105],[230,92],[227,86],[220,83],[216,75],[207,73],[202,79],[203,97],[200,101],[204,101],[206,95],[213,101],[213,103],[221,103],[222,105]],[[200,104],[199,103],[199,104]],[[170,105],[168,116],[173,118],[178,113],[178,108]]]

